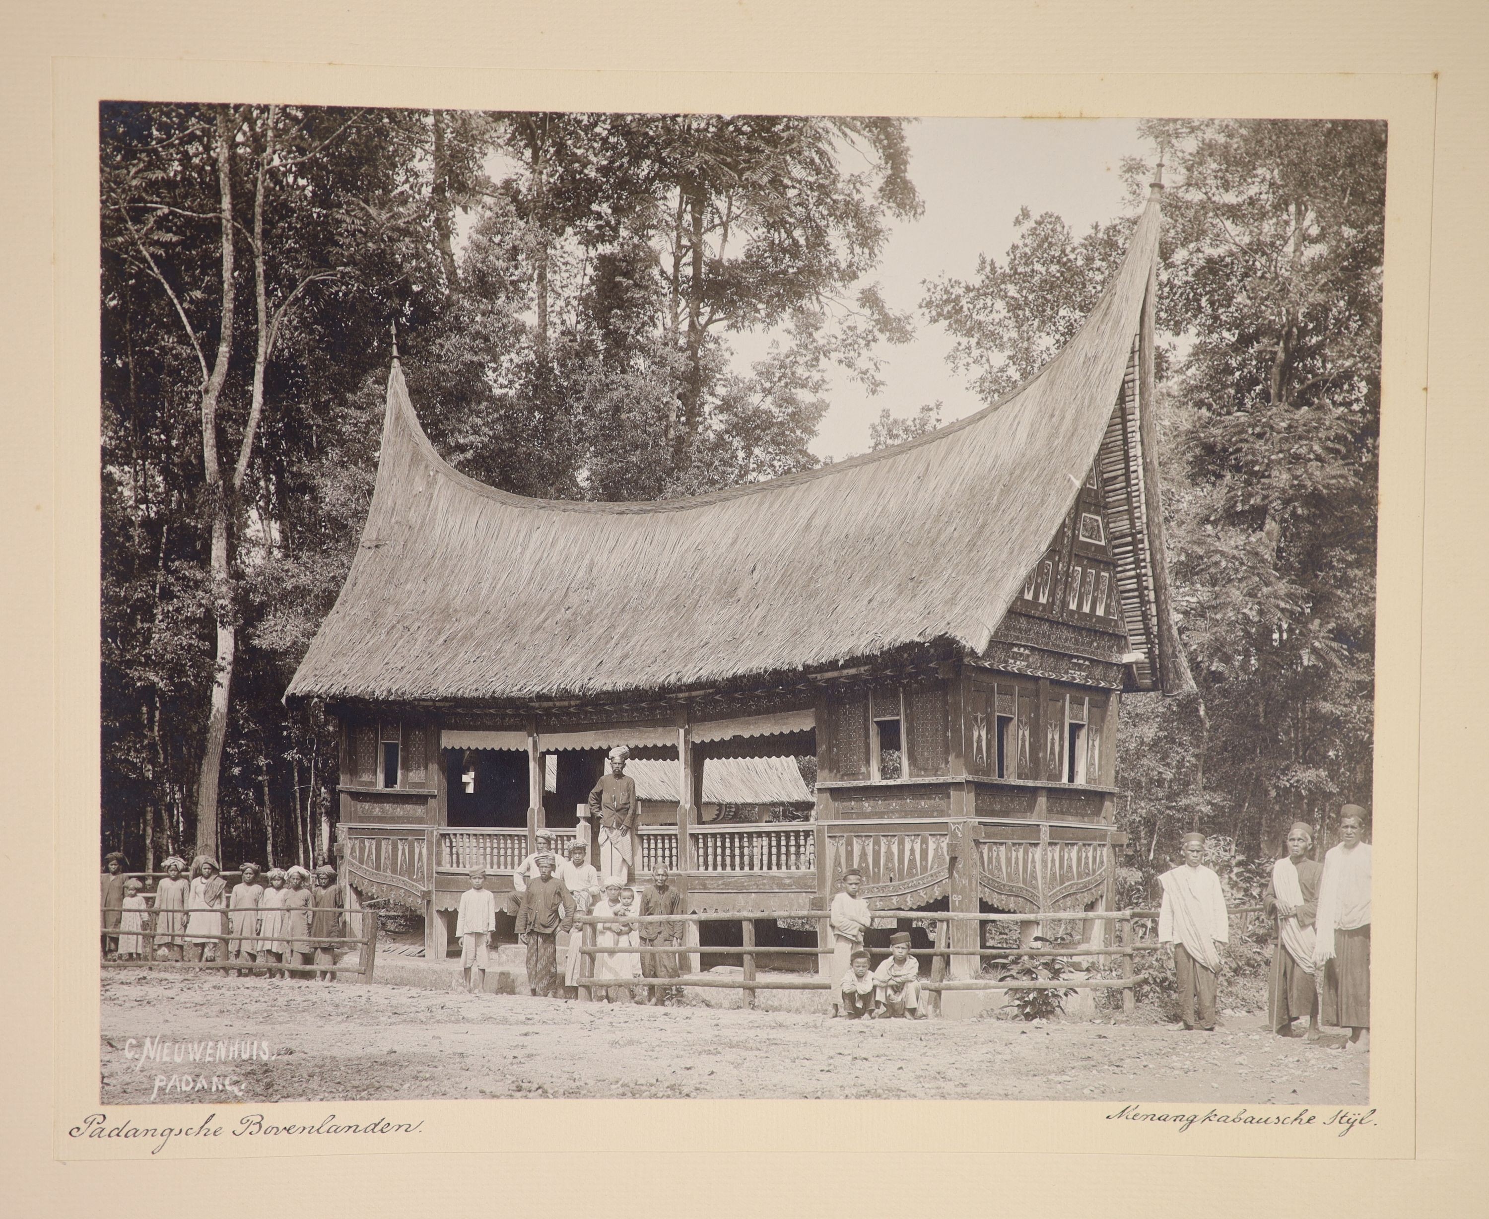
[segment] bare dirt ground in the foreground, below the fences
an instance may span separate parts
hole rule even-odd
[[[168,972],[103,982],[107,1104],[451,1097],[905,1097],[1361,1104],[1368,1055],[1154,1024],[843,1021]],[[146,1061],[146,1037],[168,1057]],[[133,1040],[131,1040],[133,1039]],[[191,1061],[205,1042],[268,1054]],[[153,1045],[153,1043],[152,1043]],[[216,1051],[213,1051],[216,1052]],[[231,1092],[213,1091],[217,1075]],[[171,1078],[177,1087],[171,1088]],[[180,1092],[182,1079],[207,1081]]]

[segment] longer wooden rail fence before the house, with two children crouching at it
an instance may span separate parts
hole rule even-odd
[[[1231,906],[1228,914],[1236,918],[1240,917],[1240,932],[1245,933],[1246,924],[1254,914],[1260,914],[1261,906]],[[832,948],[776,948],[776,947],[756,947],[755,944],[755,920],[779,920],[779,918],[794,918],[794,920],[813,920],[822,923],[829,915],[825,911],[809,911],[809,912],[794,912],[782,914],[779,911],[742,911],[728,914],[646,914],[646,915],[628,915],[624,920],[605,918],[596,915],[576,915],[575,924],[582,927],[582,944],[579,947],[581,963],[579,963],[579,999],[584,1002],[591,1002],[596,997],[596,991],[605,991],[610,987],[698,987],[698,988],[724,988],[724,990],[739,990],[743,993],[744,1006],[753,1008],[756,991],[761,990],[831,990],[831,982],[825,978],[761,978],[755,967],[756,956],[810,956],[831,957]],[[951,914],[946,911],[920,911],[920,909],[881,909],[874,911],[874,921],[893,918],[913,920],[919,923],[935,923],[934,947],[931,948],[911,948],[910,954],[913,957],[929,957],[931,959],[931,978],[929,981],[922,981],[920,988],[929,991],[932,1002],[940,1005],[940,996],[944,991],[989,991],[989,990],[1121,990],[1123,991],[1123,1009],[1130,1012],[1136,1008],[1136,985],[1138,985],[1138,970],[1135,967],[1135,959],[1138,953],[1157,953],[1161,950],[1157,941],[1142,941],[1135,935],[1133,924],[1139,921],[1154,920],[1158,917],[1155,909],[1124,909],[1124,911],[1074,911],[1071,914],[1048,912],[1039,915],[1027,914]],[[739,945],[700,945],[700,944],[669,944],[664,947],[655,945],[600,945],[596,942],[597,927],[602,923],[683,923],[694,930],[694,938],[701,939],[698,935],[698,927],[703,923],[740,923],[742,939]],[[1044,930],[1050,923],[1115,923],[1117,924],[1117,945],[1115,947],[1097,947],[1091,944],[1071,944],[1071,945],[1056,945],[1045,948],[956,948],[950,947],[950,927],[953,923],[1036,923],[1039,929]],[[685,935],[686,939],[686,935]],[[978,936],[981,939],[981,936]],[[721,978],[710,976],[707,973],[683,973],[679,978],[643,978],[640,981],[628,979],[609,979],[594,976],[594,962],[600,956],[609,954],[636,954],[636,956],[676,956],[676,957],[692,957],[692,956],[739,956],[743,960],[743,969],[740,978]],[[1062,957],[1066,960],[1080,957],[1120,957],[1121,959],[1121,976],[1118,978],[1077,978],[1069,981],[1002,981],[999,978],[947,978],[947,969],[951,957],[978,957],[986,960],[989,957],[1002,960],[1015,960],[1023,957]]]

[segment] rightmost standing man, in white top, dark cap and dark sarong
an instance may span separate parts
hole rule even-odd
[[[1339,811],[1339,845],[1324,856],[1313,964],[1322,973],[1321,1020],[1349,1028],[1345,1049],[1370,1049],[1370,844],[1365,810]]]

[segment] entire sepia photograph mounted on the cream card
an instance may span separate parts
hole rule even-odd
[[[1368,1104],[1386,168],[104,101],[100,1101]]]

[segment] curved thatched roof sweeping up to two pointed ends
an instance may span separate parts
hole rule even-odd
[[[1080,333],[996,406],[695,499],[485,487],[435,452],[395,363],[362,545],[287,697],[610,697],[916,643],[981,652],[1091,467],[1157,244],[1154,201]]]

